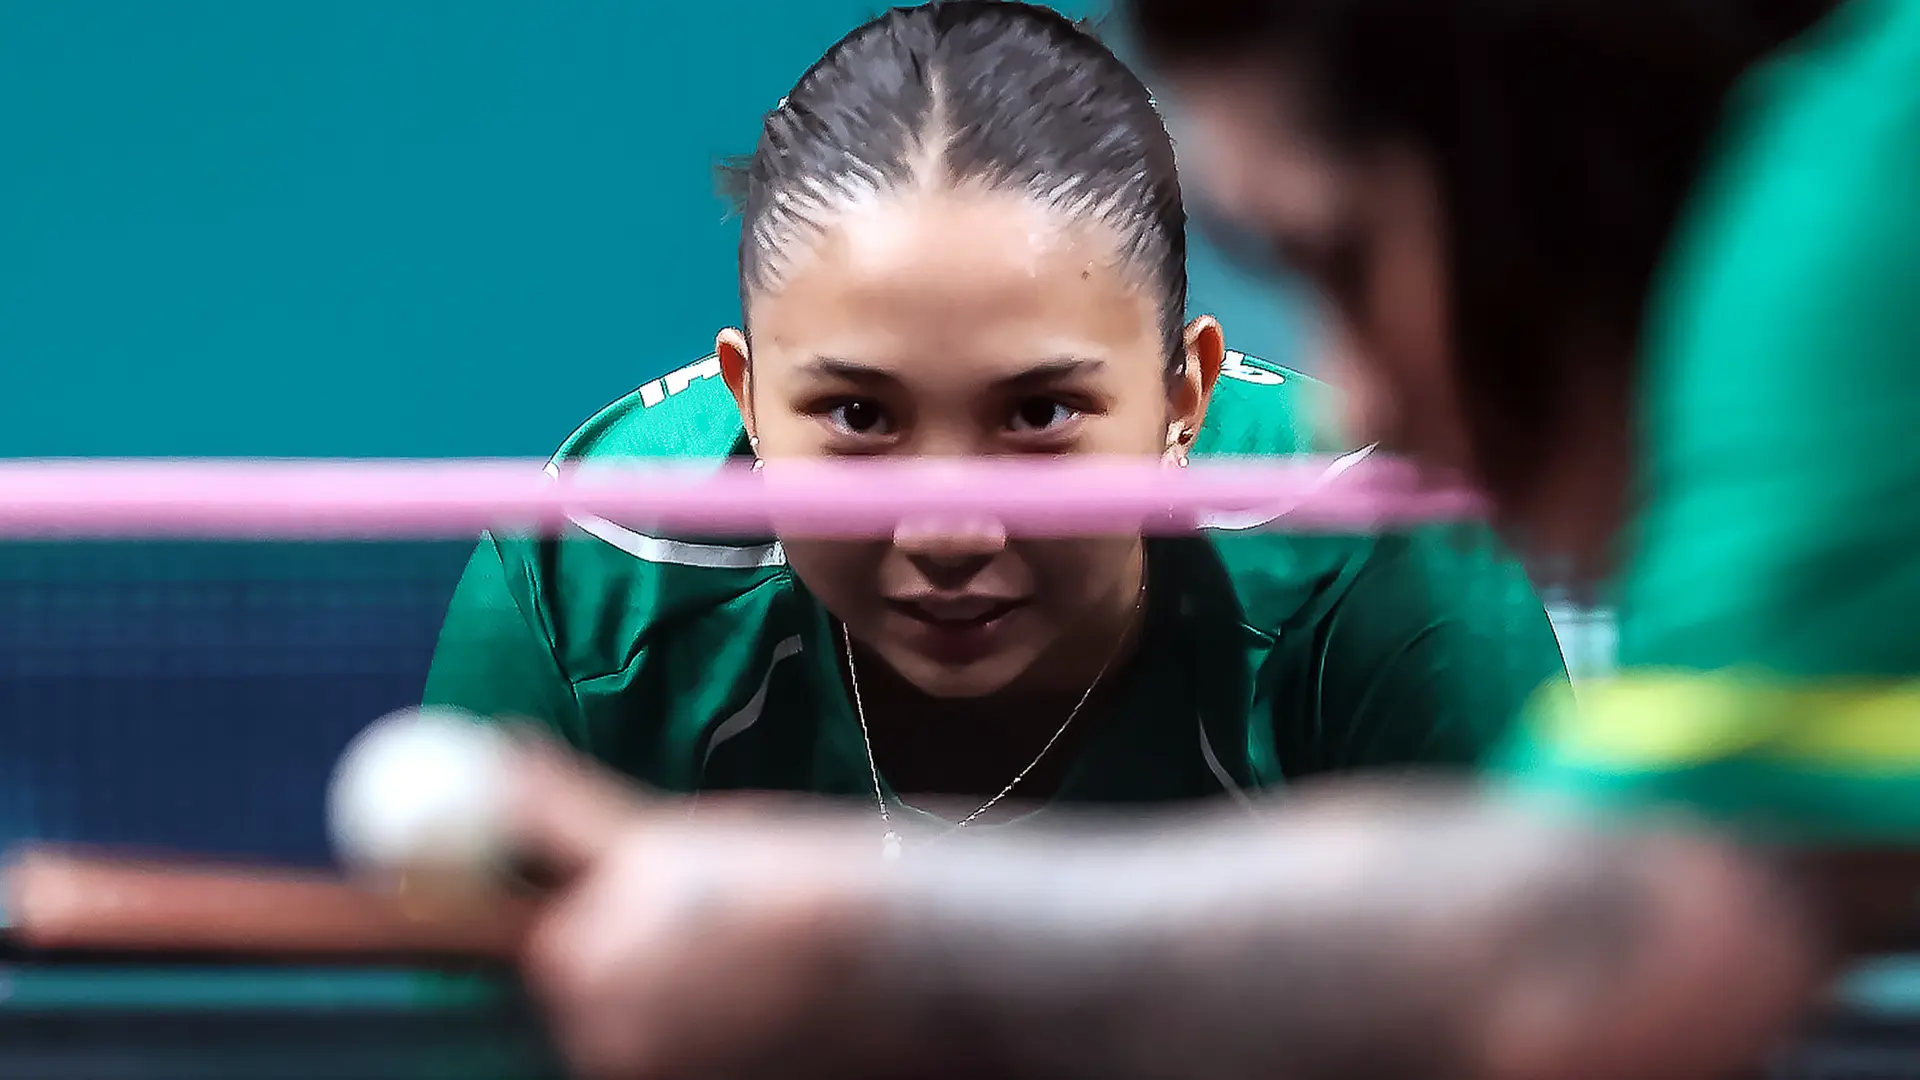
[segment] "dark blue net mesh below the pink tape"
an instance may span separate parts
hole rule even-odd
[[[417,703],[465,540],[0,540],[0,842],[326,859],[328,769]],[[1603,613],[1555,603],[1571,667]]]

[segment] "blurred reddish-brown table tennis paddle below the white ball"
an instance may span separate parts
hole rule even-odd
[[[0,867],[6,945],[46,953],[511,961],[534,903],[326,872],[33,847]]]

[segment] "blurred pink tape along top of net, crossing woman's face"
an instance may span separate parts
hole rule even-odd
[[[10,461],[0,536],[344,538],[559,532],[584,517],[699,536],[883,536],[995,519],[1023,536],[1379,530],[1478,500],[1380,455],[1196,459]]]

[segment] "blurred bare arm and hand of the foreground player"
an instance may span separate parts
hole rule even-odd
[[[518,838],[566,884],[526,982],[586,1080],[1722,1076],[1818,984],[1795,896],[1711,836],[1304,796],[889,871],[862,813],[693,817],[530,748]]]

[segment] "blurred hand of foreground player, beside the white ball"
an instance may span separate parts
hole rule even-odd
[[[849,1076],[883,1049],[835,1020],[858,1013],[872,828],[795,799],[693,817],[545,746],[513,799],[524,853],[566,882],[522,963],[582,1078]]]

